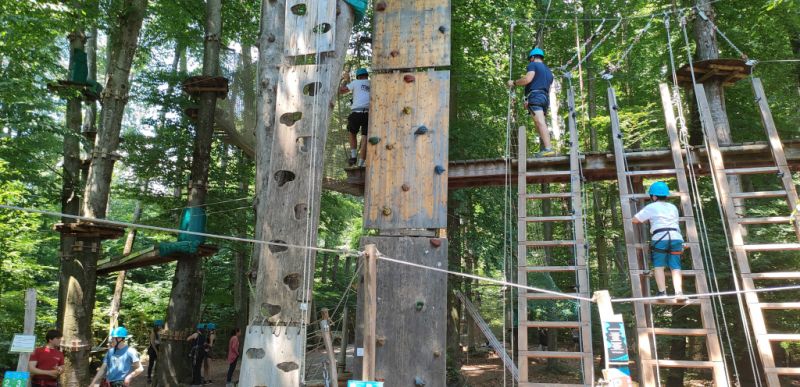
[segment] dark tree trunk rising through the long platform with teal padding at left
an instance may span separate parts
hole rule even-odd
[[[203,75],[219,75],[219,50],[222,33],[222,0],[206,1],[206,29],[203,50]],[[211,143],[214,133],[217,94],[200,94],[200,110],[194,147],[192,151],[191,179],[187,207],[200,207],[208,193],[208,171],[211,164]],[[162,386],[175,386],[191,379],[191,368],[186,361],[189,345],[182,332],[191,332],[200,320],[203,297],[203,261],[193,256],[178,260],[172,280],[170,302],[164,329],[177,333],[177,337],[162,342],[159,348],[159,367],[156,380]]]

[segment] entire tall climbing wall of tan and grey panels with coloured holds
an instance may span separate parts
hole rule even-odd
[[[362,244],[446,268],[447,241],[437,236],[447,227],[450,72],[431,67],[450,65],[450,2],[378,0],[374,7],[364,226],[378,236]],[[447,276],[379,260],[377,284],[373,378],[445,386]]]

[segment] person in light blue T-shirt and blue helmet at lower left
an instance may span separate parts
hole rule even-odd
[[[111,331],[111,342],[114,345],[108,349],[103,364],[92,379],[92,386],[99,387],[100,381],[105,377],[111,387],[128,387],[136,376],[144,372],[139,353],[125,343],[127,338],[128,330],[125,327],[117,327]]]

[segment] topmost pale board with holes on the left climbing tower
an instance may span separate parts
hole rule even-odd
[[[305,6],[304,15],[297,13],[302,6]],[[287,0],[284,31],[283,52],[287,56],[333,51],[336,0]]]

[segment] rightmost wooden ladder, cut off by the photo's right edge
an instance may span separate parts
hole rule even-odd
[[[717,200],[722,206],[725,215],[725,221],[728,225],[728,234],[730,236],[730,243],[733,245],[732,252],[736,258],[736,264],[739,267],[740,281],[742,290],[748,291],[756,289],[756,281],[761,281],[765,286],[781,286],[789,285],[792,281],[800,280],[800,272],[758,272],[753,273],[750,267],[750,254],[755,253],[756,256],[762,254],[769,254],[775,251],[789,251],[800,250],[800,243],[771,243],[771,244],[748,244],[744,241],[742,230],[747,225],[755,224],[770,224],[770,223],[784,223],[792,224],[794,228],[794,237],[797,242],[800,242],[800,225],[796,219],[792,219],[789,214],[792,209],[798,204],[797,191],[794,183],[792,182],[792,172],[789,170],[788,163],[786,162],[786,155],[783,151],[783,144],[781,143],[778,131],[775,128],[775,122],[772,120],[772,112],[767,104],[767,97],[764,93],[764,87],[759,78],[752,78],[753,91],[755,93],[758,108],[761,114],[761,121],[766,131],[769,146],[772,151],[771,165],[759,168],[726,168],[725,160],[723,160],[722,153],[719,150],[719,140],[717,138],[716,130],[714,129],[714,121],[711,118],[711,110],[709,109],[708,99],[703,85],[695,85],[695,96],[697,98],[697,105],[700,111],[700,119],[703,122],[706,136],[706,146],[708,148],[711,172],[714,181],[717,184],[718,196]],[[731,192],[728,183],[728,176],[744,175],[744,174],[773,174],[777,175],[783,185],[783,190],[780,191],[760,191],[760,192]],[[788,204],[787,216],[765,217],[765,218],[750,218],[740,216],[736,213],[734,206],[734,199],[759,199],[759,198],[784,198]],[[793,240],[795,238],[792,238]],[[780,334],[769,333],[767,324],[764,321],[764,310],[800,310],[799,302],[763,302],[759,300],[757,293],[746,293],[744,295],[747,310],[750,315],[750,323],[752,325],[753,333],[756,338],[756,345],[758,354],[761,358],[761,363],[764,369],[764,376],[766,377],[767,385],[771,387],[778,387],[781,385],[780,375],[800,375],[799,367],[776,367],[775,357],[772,352],[772,344],[775,342],[798,342],[800,341],[800,334]],[[800,313],[794,314],[795,318],[800,317]]]

